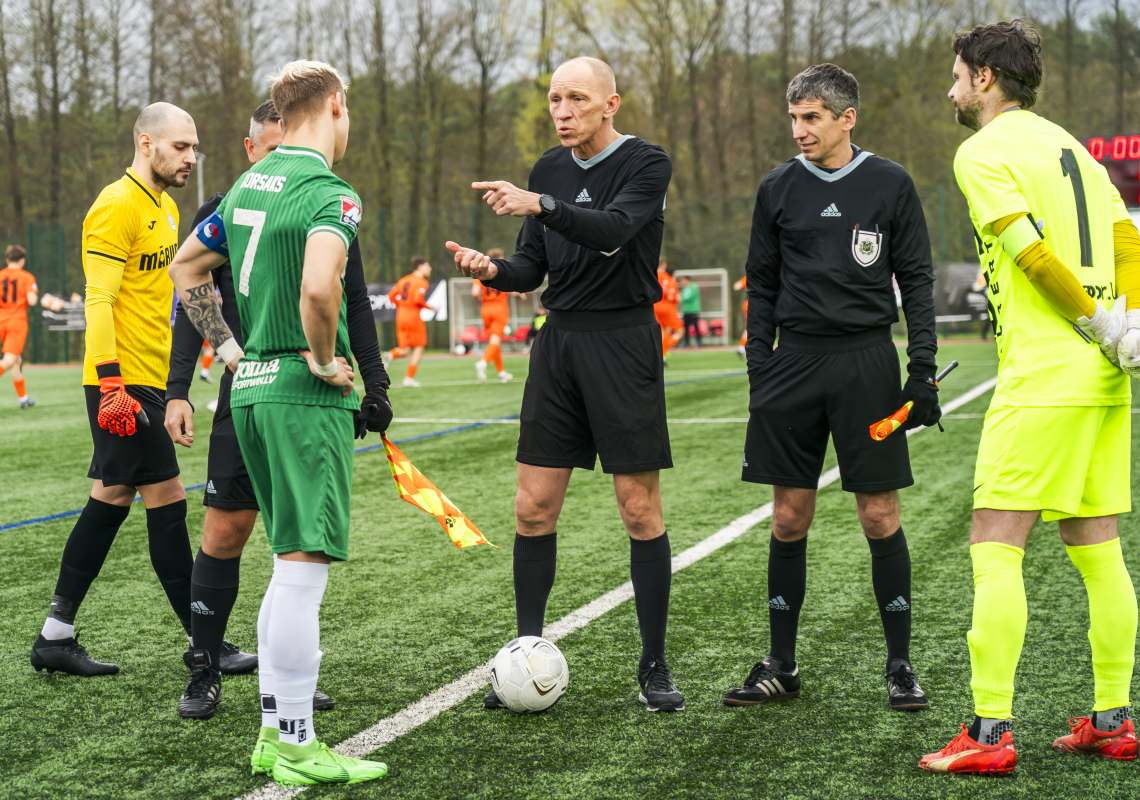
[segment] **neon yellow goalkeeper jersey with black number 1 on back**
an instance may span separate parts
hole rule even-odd
[[[1116,297],[1113,223],[1129,219],[1105,168],[1062,128],[1009,111],[962,142],[954,177],[970,204],[997,342],[992,406],[1121,406],[1129,378],[1033,288],[993,223],[1028,212],[1045,246],[1105,308]]]

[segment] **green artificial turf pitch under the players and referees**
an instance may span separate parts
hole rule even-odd
[[[901,358],[905,353],[899,351]],[[950,344],[939,361],[962,366],[943,385],[948,400],[996,370],[992,345]],[[732,352],[678,351],[667,391],[674,419],[747,416],[747,379]],[[508,358],[514,383],[478,385],[471,359],[432,359],[424,386],[391,392],[398,417],[490,418],[519,411],[526,360]],[[711,372],[706,372],[711,370]],[[393,374],[399,376],[397,362]],[[215,376],[219,370],[214,369]],[[707,379],[707,378],[712,379]],[[0,385],[0,526],[81,508],[91,443],[78,368],[31,369],[39,405],[15,407]],[[196,442],[180,450],[187,485],[205,480],[215,386],[196,381]],[[1140,765],[1062,754],[1051,741],[1069,717],[1088,715],[1092,672],[1088,606],[1056,523],[1039,523],[1025,560],[1029,627],[1013,711],[1017,773],[977,778],[925,773],[919,757],[971,718],[968,534],[974,458],[988,394],[910,440],[917,483],[902,492],[914,564],[912,656],[931,709],[888,710],[885,646],[871,591],[870,554],[855,503],[838,483],[820,492],[808,539],[808,594],[797,701],[728,708],[767,646],[768,522],[674,577],[668,659],[687,709],[648,713],[637,702],[640,651],[633,603],[559,646],[570,687],[537,716],[486,712],[480,694],[373,753],[391,772],[375,784],[310,790],[306,797],[400,798],[1133,798]],[[456,427],[396,423],[393,440]],[[1064,435],[1064,432],[1053,432]],[[767,503],[766,487],[740,481],[744,425],[673,424],[675,468],[662,473],[674,554]],[[317,733],[334,744],[483,663],[513,636],[511,582],[513,425],[487,425],[402,446],[486,536],[503,549],[464,550],[438,523],[396,496],[380,450],[356,457],[350,561],[332,570],[321,613],[320,688],[337,701]],[[376,443],[373,434],[363,444]],[[834,465],[829,455],[826,468]],[[1133,476],[1135,481],[1135,476]],[[190,492],[192,542],[201,537],[202,492]],[[223,683],[218,715],[180,719],[186,639],[150,569],[137,504],[78,619],[91,654],[117,676],[34,672],[28,663],[74,519],[0,532],[0,797],[234,798],[266,783],[250,774],[256,735],[256,676]],[[1140,525],[1121,520],[1125,557],[1140,583]],[[577,471],[559,524],[559,577],[551,623],[629,578],[626,536],[612,484]],[[228,638],[256,646],[258,604],[270,557],[260,523],[243,557],[242,594]]]

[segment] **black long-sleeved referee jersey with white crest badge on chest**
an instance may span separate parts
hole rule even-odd
[[[748,251],[748,364],[755,373],[784,334],[881,334],[898,321],[912,375],[934,375],[934,268],[914,182],[898,164],[854,147],[837,171],[803,155],[760,182]],[[789,337],[790,338],[790,337]]]

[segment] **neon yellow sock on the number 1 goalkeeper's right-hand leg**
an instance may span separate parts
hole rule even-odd
[[[1065,549],[1089,593],[1089,644],[1096,681],[1092,710],[1127,705],[1135,660],[1137,594],[1124,566],[1121,540]]]

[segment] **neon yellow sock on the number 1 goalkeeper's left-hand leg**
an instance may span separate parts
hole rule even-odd
[[[974,562],[974,627],[970,645],[970,688],[974,713],[990,719],[1013,718],[1013,674],[1029,611],[1025,601],[1019,547],[984,541],[970,546]]]

